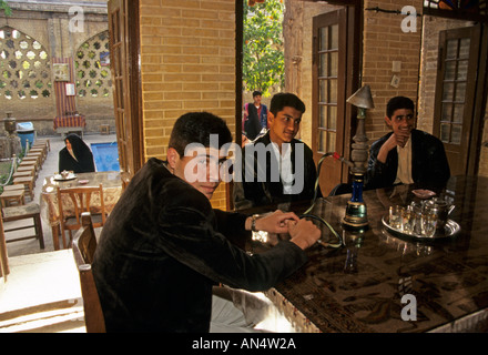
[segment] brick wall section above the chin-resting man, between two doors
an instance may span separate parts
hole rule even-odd
[[[401,10],[413,6],[421,13],[421,0],[364,1],[364,9],[379,7],[385,10]],[[406,16],[377,11],[364,11],[363,84],[369,84],[375,109],[368,110],[366,133],[370,143],[389,132],[384,116],[386,103],[396,95],[417,101],[418,72],[421,44],[421,20],[417,18],[416,32],[404,32],[401,21]],[[393,62],[399,61],[399,72],[393,72]],[[398,88],[390,85],[396,74]]]

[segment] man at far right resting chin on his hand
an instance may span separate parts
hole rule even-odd
[[[444,144],[436,136],[415,129],[414,102],[395,97],[386,108],[390,133],[372,144],[366,189],[416,183],[425,189],[441,187],[450,176]]]

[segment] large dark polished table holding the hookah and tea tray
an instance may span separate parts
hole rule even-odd
[[[350,194],[317,201],[312,213],[328,221],[345,245],[314,245],[309,262],[267,296],[304,332],[487,332],[488,179],[449,180],[444,193],[461,230],[431,242],[394,235],[382,222],[389,205],[417,199],[414,187],[365,191],[366,232],[342,226]],[[307,204],[288,210],[301,213]],[[324,227],[323,239],[331,237]]]

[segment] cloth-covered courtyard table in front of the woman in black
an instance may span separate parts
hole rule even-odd
[[[80,181],[87,181],[84,184],[80,184]],[[41,192],[41,215],[42,219],[51,225],[54,250],[60,248],[59,235],[60,235],[60,221],[58,209],[58,195],[57,186],[60,187],[73,187],[73,186],[94,186],[103,185],[103,201],[105,204],[105,211],[110,212],[115,206],[122,194],[122,181],[120,172],[95,172],[95,173],[79,173],[77,178],[68,181],[57,181],[54,175],[44,179]],[[99,199],[100,200],[100,199]],[[96,206],[100,201],[96,201],[96,196],[93,196],[92,204]]]

